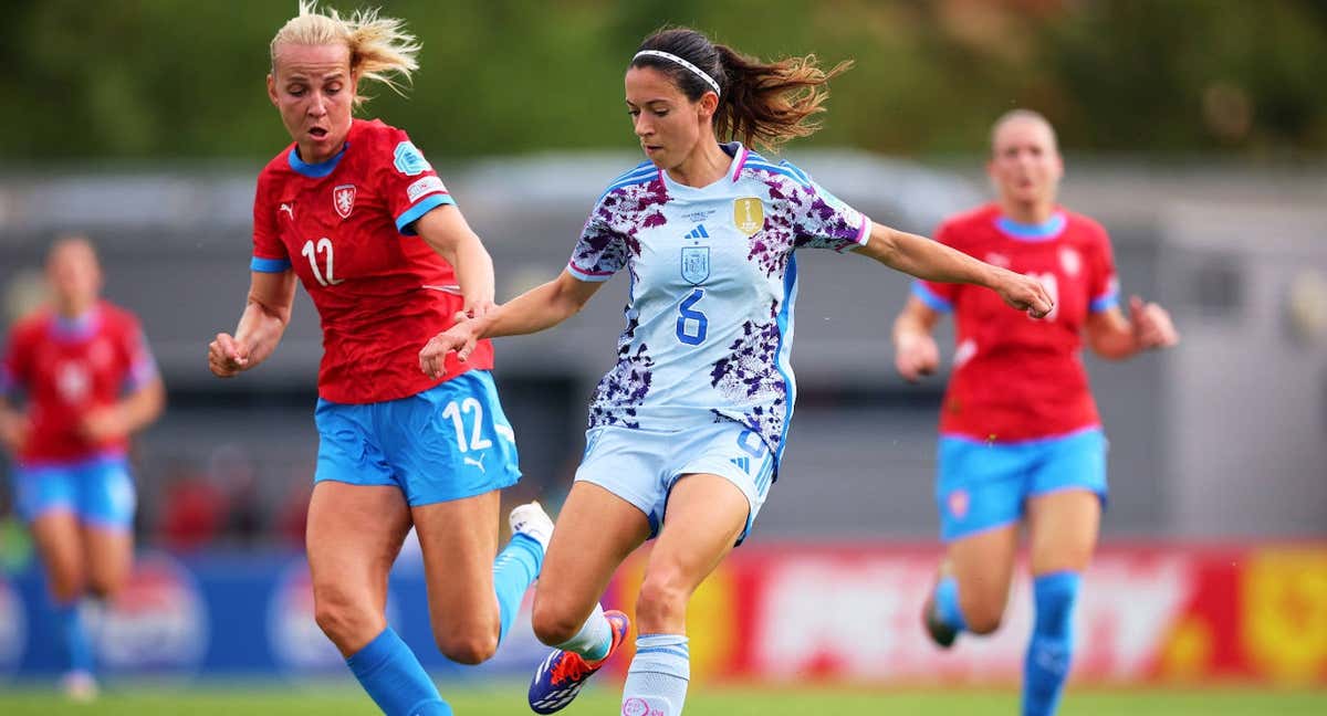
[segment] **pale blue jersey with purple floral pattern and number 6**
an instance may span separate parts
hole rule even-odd
[[[641,163],[613,182],[585,223],[572,276],[630,274],[617,365],[598,383],[589,427],[669,431],[735,420],[778,455],[796,396],[794,252],[852,249],[867,241],[871,221],[787,162],[736,142],[725,150],[727,175],[701,188]]]

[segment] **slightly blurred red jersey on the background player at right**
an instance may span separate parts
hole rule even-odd
[[[1007,443],[1100,424],[1080,349],[1088,313],[1119,301],[1105,229],[1064,209],[1038,227],[1016,224],[991,204],[950,219],[936,239],[1039,278],[1055,300],[1050,316],[1034,320],[990,289],[914,284],[914,296],[955,314],[958,346],[941,434]]]

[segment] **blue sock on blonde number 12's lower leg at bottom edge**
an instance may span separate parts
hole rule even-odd
[[[387,716],[451,716],[429,674],[391,627],[345,660]]]

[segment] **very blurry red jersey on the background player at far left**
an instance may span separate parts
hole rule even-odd
[[[27,394],[32,431],[19,460],[24,464],[76,461],[123,452],[127,439],[93,443],[78,423],[88,411],[115,404],[157,375],[138,320],[106,301],[78,320],[41,310],[9,334],[0,366],[0,390]]]

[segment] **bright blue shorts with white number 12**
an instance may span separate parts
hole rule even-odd
[[[397,400],[318,399],[316,483],[395,485],[410,507],[474,497],[520,480],[516,435],[486,370]]]

